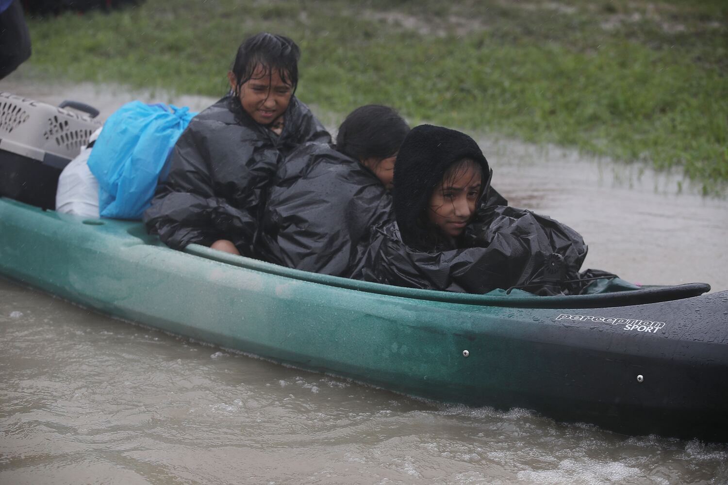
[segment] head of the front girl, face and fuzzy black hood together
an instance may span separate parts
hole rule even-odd
[[[405,138],[392,192],[402,240],[422,251],[464,247],[491,170],[471,137],[424,124]]]

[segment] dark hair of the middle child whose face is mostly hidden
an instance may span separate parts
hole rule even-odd
[[[393,108],[365,105],[355,109],[339,127],[336,150],[358,161],[388,159],[400,150],[410,127]]]

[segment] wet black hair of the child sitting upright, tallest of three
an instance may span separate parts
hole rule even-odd
[[[256,67],[262,65],[269,75],[274,70],[278,71],[280,79],[286,84],[290,84],[295,93],[298,86],[298,59],[300,57],[301,49],[298,49],[296,42],[288,37],[267,32],[256,33],[256,35],[248,37],[238,47],[237,55],[230,68],[237,80],[236,92],[253,78]]]

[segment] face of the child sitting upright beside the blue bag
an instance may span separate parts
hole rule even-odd
[[[228,73],[233,91],[237,89],[234,73]],[[240,86],[240,104],[256,123],[268,125],[285,113],[293,95],[293,87],[280,79],[278,71],[272,72],[257,65],[253,77]]]

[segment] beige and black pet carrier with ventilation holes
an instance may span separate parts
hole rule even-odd
[[[55,208],[58,175],[101,127],[97,115],[82,103],[52,106],[0,92],[0,196]]]

